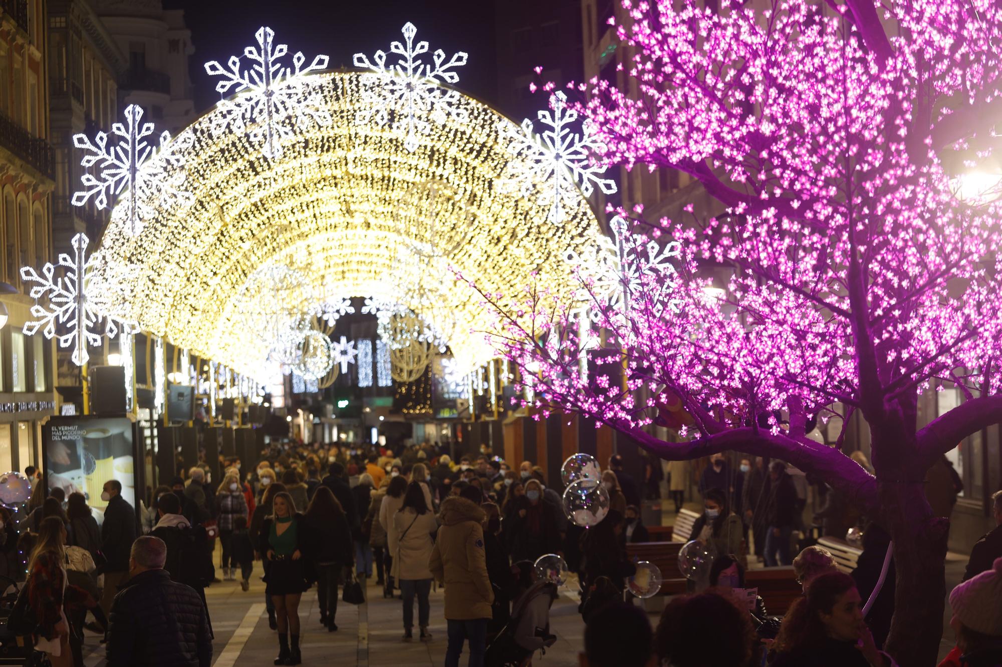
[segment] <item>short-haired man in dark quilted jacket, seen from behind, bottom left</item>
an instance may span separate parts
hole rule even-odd
[[[129,580],[115,596],[108,627],[109,667],[209,667],[212,640],[205,607],[189,586],[163,570],[163,541],[132,545]]]

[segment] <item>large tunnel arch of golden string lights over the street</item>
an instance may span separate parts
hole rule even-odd
[[[389,124],[357,122],[365,104],[361,77],[310,75],[333,122],[297,128],[275,159],[245,133],[213,137],[215,110],[174,138],[184,146],[182,166],[165,168],[168,175],[184,170],[194,203],[148,201],[157,215],[137,235],[119,203],[100,245],[102,270],[115,275],[140,328],[260,377],[267,347],[245,330],[234,298],[259,267],[294,265],[325,296],[389,300],[399,300],[420,274],[436,305],[422,314],[436,324],[448,314],[450,348],[472,369],[493,357],[476,333],[489,330],[492,317],[450,267],[491,292],[514,294],[533,272],[558,292],[580,286],[563,257],[599,245],[598,220],[578,196],[563,224],[553,225],[538,197],[501,186],[510,163],[521,159],[499,129],[511,120],[461,95],[467,118],[432,122],[409,151]],[[401,254],[398,232],[401,215],[426,213],[401,209],[401,202],[429,180],[448,183],[463,202],[436,211],[443,245],[454,249],[430,266]]]

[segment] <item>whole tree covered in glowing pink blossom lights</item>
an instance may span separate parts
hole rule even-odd
[[[948,521],[923,480],[1002,422],[1002,209],[959,196],[957,179],[995,141],[1002,10],[753,4],[624,1],[628,87],[579,86],[603,163],[684,171],[727,214],[619,211],[616,247],[575,258],[601,336],[541,288],[484,297],[540,413],[586,415],[665,459],[777,457],[865,507],[896,546],[888,648],[931,665]],[[708,288],[710,268],[725,290]],[[944,384],[966,401],[919,429],[919,396]],[[680,443],[644,429],[673,400],[693,420]],[[876,477],[806,436],[836,406],[869,427]]]

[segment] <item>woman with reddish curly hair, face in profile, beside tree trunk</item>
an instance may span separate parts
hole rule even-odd
[[[877,649],[863,619],[863,600],[847,574],[811,582],[790,607],[776,639],[773,667],[896,667]]]

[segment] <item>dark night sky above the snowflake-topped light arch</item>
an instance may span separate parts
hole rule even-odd
[[[337,68],[350,67],[356,52],[371,60],[377,49],[388,51],[391,41],[403,39],[400,29],[411,21],[418,28],[416,39],[427,40],[431,51],[441,48],[447,59],[456,51],[469,54],[467,65],[458,70],[459,88],[488,102],[496,96],[492,0],[164,0],[163,7],[183,9],[191,29],[198,112],[219,98],[204,63],[219,60],[225,65],[230,55],[257,45],[254,33],[263,25],[274,28],[291,53],[303,51],[308,63],[327,54],[330,66]],[[427,54],[424,62],[430,59]]]

